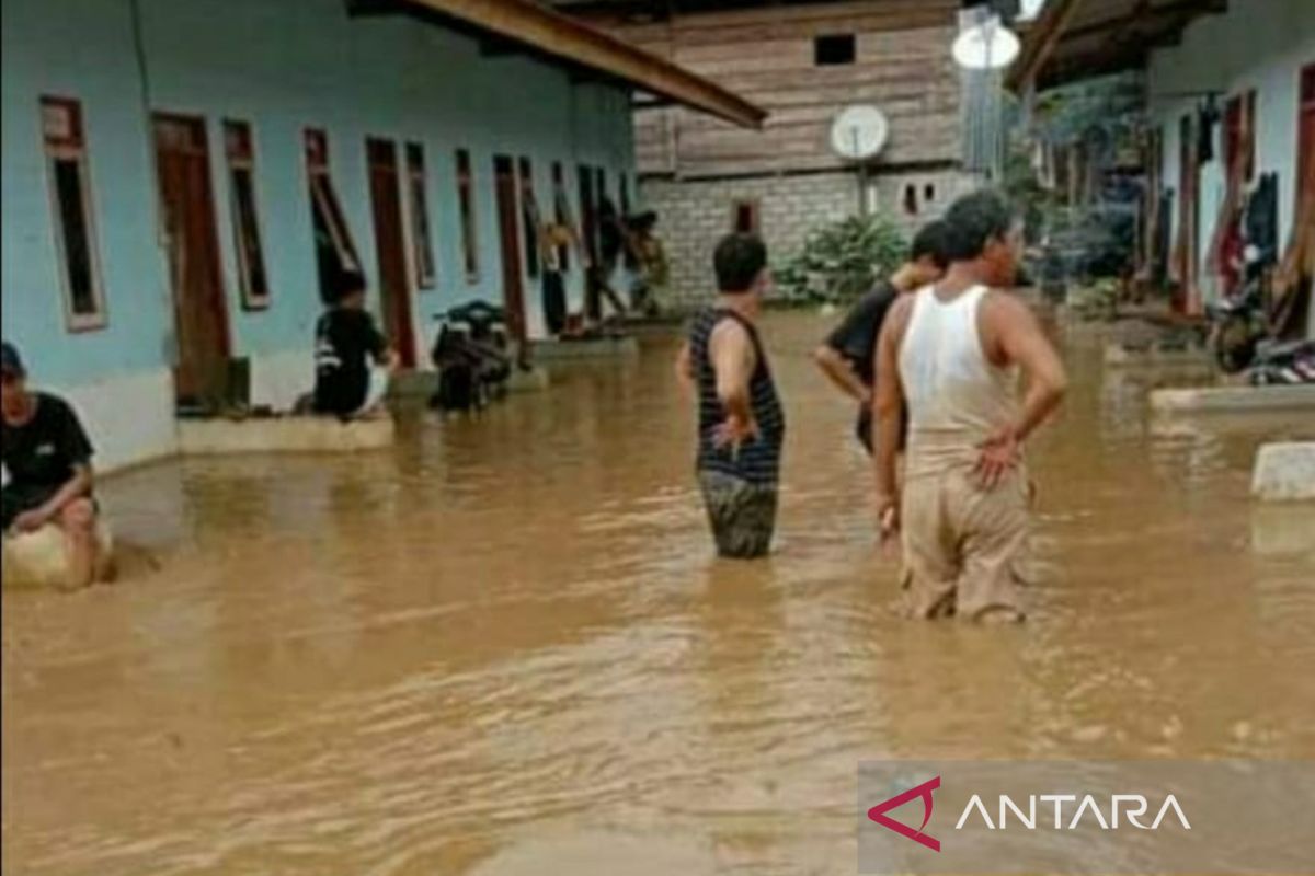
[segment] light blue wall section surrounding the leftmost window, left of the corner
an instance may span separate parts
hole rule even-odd
[[[0,301],[4,336],[42,380],[74,382],[159,366],[172,317],[155,246],[155,188],[126,0],[5,0]],[[91,196],[109,324],[64,324],[38,100],[83,101]]]

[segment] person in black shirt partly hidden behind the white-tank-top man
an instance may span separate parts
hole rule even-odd
[[[909,260],[889,278],[878,280],[813,353],[822,373],[859,403],[856,435],[868,453],[872,453],[872,393],[881,324],[896,298],[940,280],[949,264],[947,250],[945,223],[926,225],[913,239]]]

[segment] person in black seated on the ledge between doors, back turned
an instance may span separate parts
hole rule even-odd
[[[334,301],[316,323],[317,414],[343,420],[377,412],[397,370],[397,353],[366,310],[366,278],[338,271]]]

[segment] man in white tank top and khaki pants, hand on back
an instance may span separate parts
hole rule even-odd
[[[1009,202],[976,192],[956,201],[945,222],[949,271],[892,307],[877,347],[882,536],[902,536],[909,616],[1022,620],[1015,567],[1030,523],[1023,443],[1055,412],[1066,377],[1032,313],[1001,292],[1014,285],[1022,247]]]

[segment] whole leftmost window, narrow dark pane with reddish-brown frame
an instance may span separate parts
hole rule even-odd
[[[46,141],[50,206],[68,327],[72,331],[101,328],[105,326],[105,297],[92,221],[82,104],[42,97],[41,131]]]

